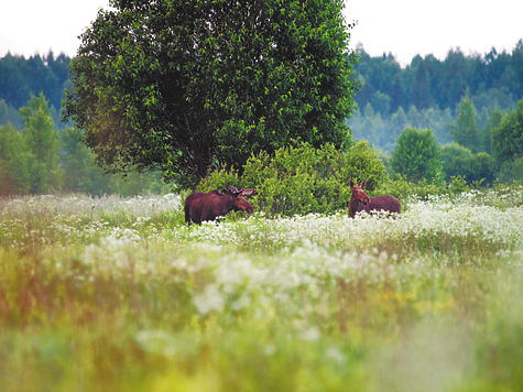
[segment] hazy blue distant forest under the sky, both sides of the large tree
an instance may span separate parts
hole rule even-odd
[[[443,61],[417,55],[404,68],[391,54],[371,57],[361,46],[357,51],[359,110],[347,122],[355,139],[369,140],[385,152],[393,150],[407,127],[431,128],[440,144],[451,142],[449,126],[465,98],[472,101],[482,128],[494,109],[513,110],[523,97],[523,40],[510,53],[492,48],[484,55],[466,56],[451,50]],[[64,89],[70,85],[69,63],[68,56],[55,57],[52,52],[0,58],[0,124],[11,122],[20,129],[18,109],[28,105],[31,95],[43,92],[55,126],[64,129],[59,109]]]

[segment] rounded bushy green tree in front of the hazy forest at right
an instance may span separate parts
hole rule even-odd
[[[431,129],[406,128],[396,140],[391,157],[392,170],[417,182],[431,181],[442,168],[440,151]]]

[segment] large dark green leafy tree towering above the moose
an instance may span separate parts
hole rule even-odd
[[[112,0],[81,35],[65,120],[107,170],[197,182],[292,139],[350,144],[340,0]]]

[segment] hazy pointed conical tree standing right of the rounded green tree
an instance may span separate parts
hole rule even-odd
[[[476,112],[469,98],[465,98],[459,106],[456,126],[450,126],[449,133],[456,143],[469,149],[472,153],[477,153],[482,149]]]

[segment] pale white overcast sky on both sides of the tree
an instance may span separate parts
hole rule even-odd
[[[0,4],[0,57],[47,54],[75,56],[78,35],[109,0],[7,0]],[[512,51],[523,39],[521,0],[346,0],[351,31],[371,56],[392,53],[405,66],[421,54],[444,59],[450,48],[466,55]]]

